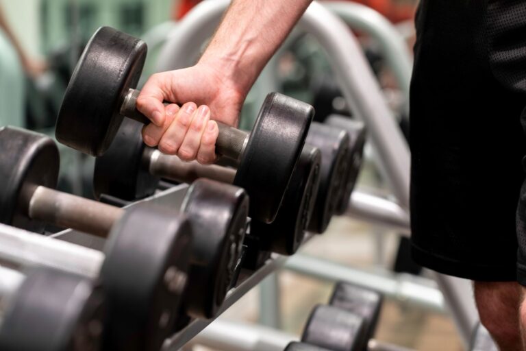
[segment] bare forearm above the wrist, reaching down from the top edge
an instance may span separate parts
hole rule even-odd
[[[312,0],[234,0],[199,62],[246,95]]]

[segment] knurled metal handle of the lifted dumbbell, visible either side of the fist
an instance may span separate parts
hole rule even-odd
[[[136,89],[129,89],[121,105],[120,113],[122,116],[134,119],[142,124],[149,124],[150,120],[139,110],[137,110],[137,97],[140,91]],[[240,156],[245,150],[245,146],[249,141],[249,133],[238,130],[225,123],[216,121],[219,134],[216,141],[216,154],[231,158],[239,162]]]

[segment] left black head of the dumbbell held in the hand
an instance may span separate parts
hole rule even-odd
[[[58,112],[55,135],[64,145],[100,156],[123,117],[125,94],[136,88],[147,46],[111,27],[93,34],[80,57]]]

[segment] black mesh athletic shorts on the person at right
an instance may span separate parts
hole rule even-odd
[[[526,285],[526,1],[422,0],[416,32],[413,258]]]

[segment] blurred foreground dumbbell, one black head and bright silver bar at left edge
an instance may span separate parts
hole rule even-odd
[[[155,350],[171,332],[186,289],[191,237],[184,216],[164,208],[137,206],[112,228],[104,254],[2,228],[1,259],[21,267],[27,261],[45,265],[53,260],[55,267],[66,266],[68,271],[98,280],[107,312],[103,350]],[[12,250],[23,247],[22,254],[14,256],[8,250],[12,245]],[[83,260],[77,261],[77,256]]]

